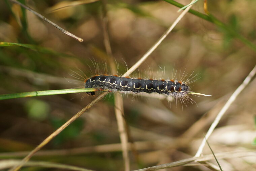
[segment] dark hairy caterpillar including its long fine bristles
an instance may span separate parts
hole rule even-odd
[[[105,73],[107,72],[106,69],[106,62],[104,64]],[[99,64],[95,60],[92,61],[92,65],[94,66],[95,72],[99,73]],[[88,65],[91,74],[95,73],[92,71],[90,65]],[[119,63],[118,63],[119,66]],[[80,70],[81,71],[81,70]],[[180,100],[181,102],[189,101],[191,103],[194,102],[194,100],[189,97],[189,94],[192,95],[202,95],[202,96],[211,96],[211,95],[205,95],[201,93],[195,93],[190,90],[190,87],[188,84],[194,82],[195,80],[192,80],[195,76],[192,76],[192,74],[187,78],[185,82],[177,81],[177,80],[164,80],[164,79],[141,79],[141,78],[130,78],[130,77],[120,77],[118,75],[107,75],[107,74],[97,74],[91,77],[87,77],[86,74],[83,73],[82,75],[72,71],[70,75],[73,76],[76,79],[83,80],[84,81],[84,88],[85,89],[97,89],[98,91],[120,91],[120,92],[133,92],[134,94],[138,93],[158,93],[166,95],[167,97],[173,97],[177,100]],[[176,73],[175,73],[176,75]],[[187,74],[182,74],[182,78],[185,78]],[[192,76],[192,77],[191,77]],[[81,83],[79,81],[79,83]],[[88,95],[95,96],[95,90],[91,92],[86,92]],[[84,96],[83,96],[84,97]]]

